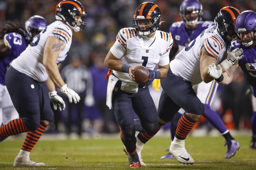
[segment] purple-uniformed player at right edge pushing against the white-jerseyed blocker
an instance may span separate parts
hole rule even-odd
[[[239,60],[237,64],[222,73],[222,68],[218,64],[208,67],[209,74],[216,79],[219,84],[229,84],[236,72],[238,66],[244,71],[248,83],[252,86],[252,108],[253,114],[251,119],[252,141],[250,148],[255,149],[256,142],[256,12],[244,11],[237,18],[235,23],[237,40],[231,42],[231,50],[242,48],[244,58]]]

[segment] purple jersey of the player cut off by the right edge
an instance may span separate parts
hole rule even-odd
[[[256,47],[244,48],[237,40],[231,42],[231,51],[235,48],[242,48],[244,58],[238,61],[244,71],[248,83],[252,86],[253,95],[256,97]]]

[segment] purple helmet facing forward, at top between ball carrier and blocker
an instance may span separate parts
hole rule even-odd
[[[196,18],[186,18],[187,13],[198,13]],[[184,0],[180,4],[180,16],[188,26],[195,26],[202,20],[203,6],[198,0]]]

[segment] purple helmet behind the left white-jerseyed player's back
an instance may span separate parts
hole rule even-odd
[[[44,17],[34,15],[25,22],[25,35],[28,41],[32,41],[33,37],[39,34],[47,27],[47,21]]]

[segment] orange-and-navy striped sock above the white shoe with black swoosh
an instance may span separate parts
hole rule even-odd
[[[196,121],[188,117],[186,113],[184,113],[178,122],[178,126],[176,129],[175,137],[180,140],[186,139],[190,130],[194,127]]]

